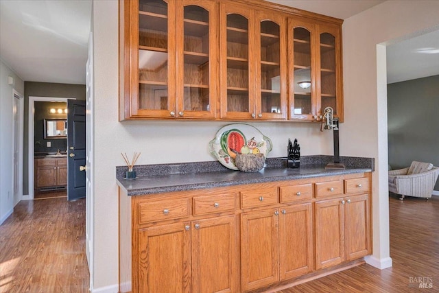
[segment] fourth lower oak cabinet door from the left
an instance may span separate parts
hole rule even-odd
[[[310,202],[280,210],[279,262],[282,281],[313,270],[313,222]]]

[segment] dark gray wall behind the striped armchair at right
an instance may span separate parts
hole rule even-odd
[[[412,161],[439,166],[439,75],[388,84],[387,95],[392,169]]]

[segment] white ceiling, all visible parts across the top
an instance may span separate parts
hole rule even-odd
[[[268,1],[339,19],[384,2]],[[91,7],[92,0],[0,0],[1,60],[24,81],[85,84]],[[439,31],[390,45],[388,82],[439,74],[438,49]]]

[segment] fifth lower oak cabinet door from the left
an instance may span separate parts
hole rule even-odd
[[[344,200],[335,198],[315,203],[316,269],[344,261]]]

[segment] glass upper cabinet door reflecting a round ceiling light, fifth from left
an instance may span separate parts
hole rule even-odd
[[[289,75],[289,117],[291,119],[316,119],[316,78],[314,67],[313,34],[315,28],[310,23],[289,23],[290,57]]]

